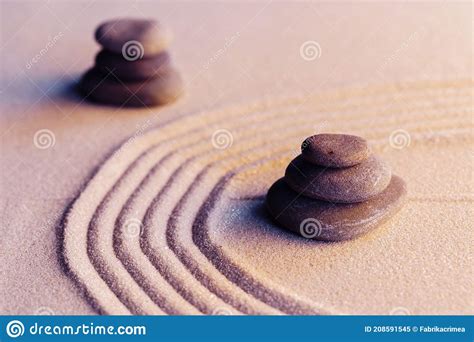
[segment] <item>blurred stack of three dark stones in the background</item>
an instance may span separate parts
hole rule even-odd
[[[171,33],[154,20],[115,19],[95,33],[102,46],[83,76],[87,98],[118,106],[156,106],[175,101],[183,81],[166,49]]]

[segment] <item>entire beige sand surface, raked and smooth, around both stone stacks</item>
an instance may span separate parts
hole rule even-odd
[[[1,9],[0,313],[474,312],[470,4]],[[174,31],[178,103],[71,90],[125,14]],[[402,212],[338,244],[276,227],[263,196],[318,132],[366,137]]]

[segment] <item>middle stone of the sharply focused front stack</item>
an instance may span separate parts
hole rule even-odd
[[[347,168],[328,168],[308,163],[302,155],[286,168],[285,181],[305,196],[335,202],[356,203],[381,193],[390,183],[390,166],[377,156]]]

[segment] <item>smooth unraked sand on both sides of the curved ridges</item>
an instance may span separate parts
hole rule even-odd
[[[180,116],[195,116],[178,122],[186,133],[235,107],[268,103],[262,112],[275,113],[293,94],[299,100],[288,112],[304,109],[308,122],[294,123],[295,136],[281,145],[273,132],[269,149],[289,152],[232,180],[212,215],[211,239],[267,284],[336,313],[473,313],[471,4],[45,1],[2,2],[1,12],[1,313],[97,312],[64,272],[57,232],[121,142]],[[70,90],[99,49],[94,28],[123,15],[155,17],[174,31],[171,53],[187,82],[178,103],[119,110]],[[300,51],[308,41],[321,48],[311,61]],[[372,98],[382,102],[378,96],[385,104],[372,108],[384,112],[380,120],[377,110],[364,112]],[[343,110],[334,103],[354,102],[357,111],[337,120]],[[397,109],[407,121],[397,121]],[[355,122],[359,115],[368,120]],[[291,125],[278,129],[289,133]],[[203,129],[202,141],[221,126]],[[250,125],[254,137],[262,126]],[[41,129],[53,132],[53,146],[35,146]],[[410,146],[391,148],[397,129],[413,132]],[[351,243],[311,245],[262,218],[259,196],[283,173],[291,148],[320,130],[368,136],[408,181],[411,200],[390,227]],[[234,134],[233,146],[252,143]]]

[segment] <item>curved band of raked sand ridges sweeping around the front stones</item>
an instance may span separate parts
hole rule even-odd
[[[462,139],[472,127],[470,96],[470,81],[400,84],[266,99],[159,127],[120,147],[74,202],[64,225],[66,263],[105,313],[337,312],[261,279],[213,244],[214,206],[236,195],[223,195],[226,184],[262,160],[294,154],[318,129],[308,121],[363,135],[377,149],[390,148],[400,127],[412,144]],[[329,115],[331,107],[338,110]],[[231,133],[222,150],[211,142],[219,128]]]

